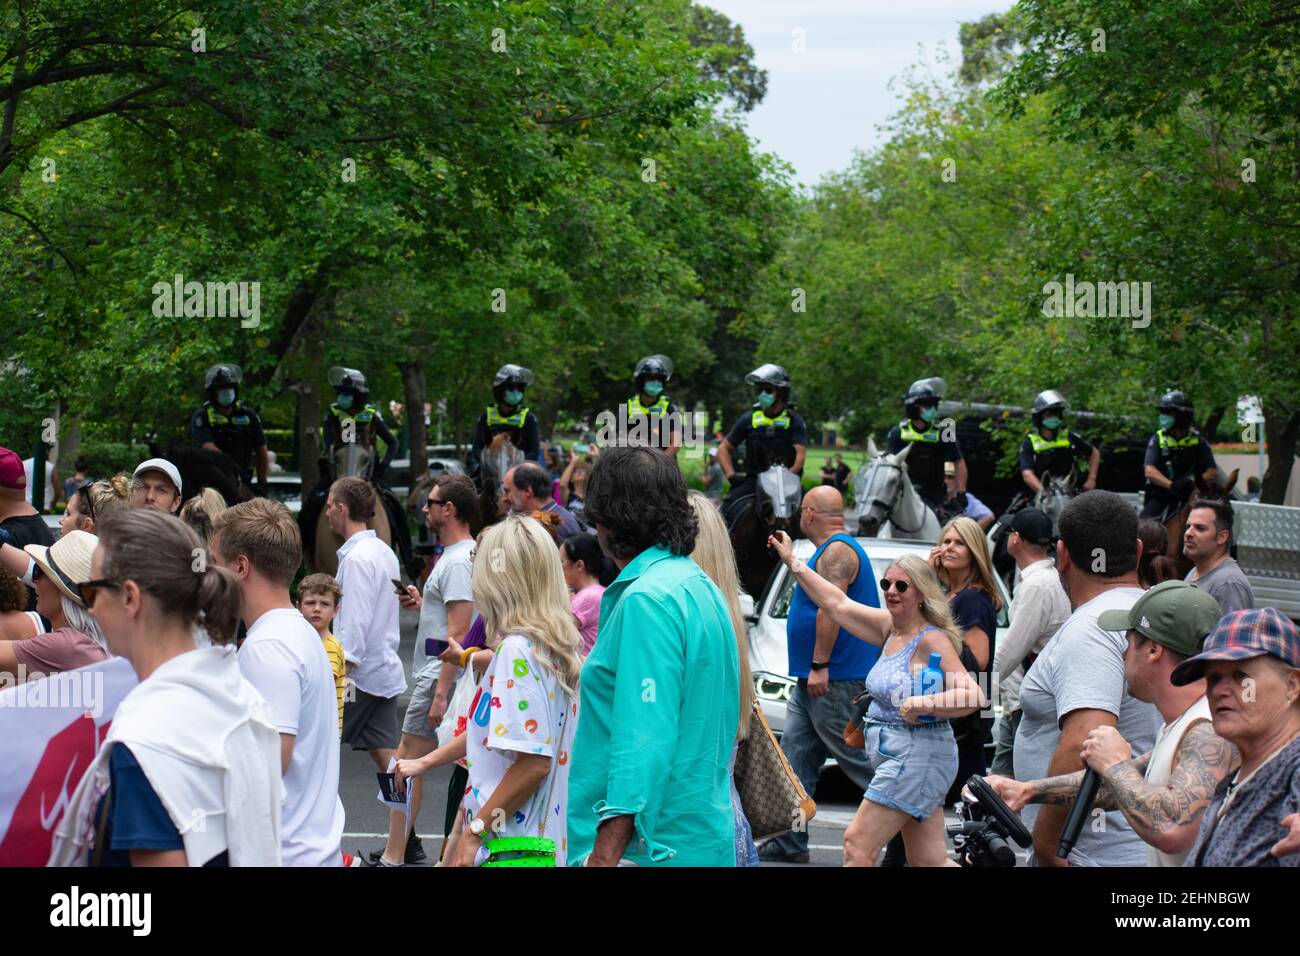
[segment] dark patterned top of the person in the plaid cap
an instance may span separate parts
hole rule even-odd
[[[1279,858],[1269,852],[1286,834],[1280,826],[1283,817],[1300,812],[1300,737],[1240,784],[1240,792],[1219,819],[1219,809],[1238,775],[1219,782],[1183,866],[1300,866],[1300,853]]]

